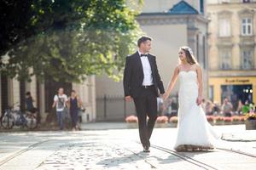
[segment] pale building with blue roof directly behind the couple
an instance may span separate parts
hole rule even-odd
[[[167,88],[178,65],[178,49],[189,46],[204,70],[204,97],[207,97],[207,24],[204,1],[145,0],[137,17],[145,35],[153,38],[151,54],[156,56],[160,77]],[[125,57],[125,56],[124,56]],[[177,96],[178,85],[172,95]],[[104,100],[109,97],[109,102]],[[122,82],[96,77],[96,116],[98,119],[124,120],[136,114],[133,102],[124,102]],[[107,99],[108,100],[108,99]]]

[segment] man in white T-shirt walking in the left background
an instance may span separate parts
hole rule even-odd
[[[58,124],[60,129],[63,130],[65,109],[67,108],[67,95],[64,94],[64,88],[59,88],[58,94],[55,95],[52,107],[55,108],[55,106]]]

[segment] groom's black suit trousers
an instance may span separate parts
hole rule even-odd
[[[157,97],[155,96],[154,86],[142,88],[140,93],[140,97],[134,98],[140,139],[143,146],[150,146],[149,139],[157,118]]]

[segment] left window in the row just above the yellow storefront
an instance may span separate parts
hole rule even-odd
[[[219,51],[220,68],[222,70],[231,69],[231,49],[224,49]]]

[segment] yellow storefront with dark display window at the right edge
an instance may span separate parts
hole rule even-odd
[[[256,77],[211,77],[209,78],[209,99],[222,104],[224,98],[237,105],[239,99],[244,104],[256,103]]]

